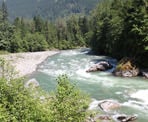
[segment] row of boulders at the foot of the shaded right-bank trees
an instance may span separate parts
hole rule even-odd
[[[113,67],[113,65],[109,61],[100,61],[93,66],[91,66],[89,69],[86,70],[86,72],[96,72],[96,71],[107,71],[114,68],[112,71],[113,75],[115,76],[121,76],[121,77],[136,77],[136,76],[143,76],[145,78],[148,78],[148,70],[143,70],[138,68],[132,60],[129,58],[123,58],[119,63],[116,65],[116,67]]]

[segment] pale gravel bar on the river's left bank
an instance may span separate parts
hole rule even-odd
[[[18,72],[18,76],[26,76],[34,72],[37,65],[42,63],[47,57],[55,55],[59,51],[27,52],[1,55],[8,60]]]

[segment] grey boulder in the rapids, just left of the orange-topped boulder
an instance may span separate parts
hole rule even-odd
[[[108,61],[100,61],[99,63],[90,67],[86,72],[95,72],[95,71],[106,71],[111,69],[113,66]]]

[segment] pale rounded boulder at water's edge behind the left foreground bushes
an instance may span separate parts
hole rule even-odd
[[[29,81],[27,81],[25,83],[26,88],[29,88],[29,87],[36,88],[36,87],[39,87],[39,86],[40,86],[39,82],[34,78],[30,79]]]

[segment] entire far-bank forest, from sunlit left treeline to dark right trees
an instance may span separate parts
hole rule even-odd
[[[130,57],[147,66],[148,2],[104,0],[90,15],[71,15],[50,22],[40,15],[8,21],[3,2],[0,13],[0,50],[42,51],[91,47],[99,55]]]

